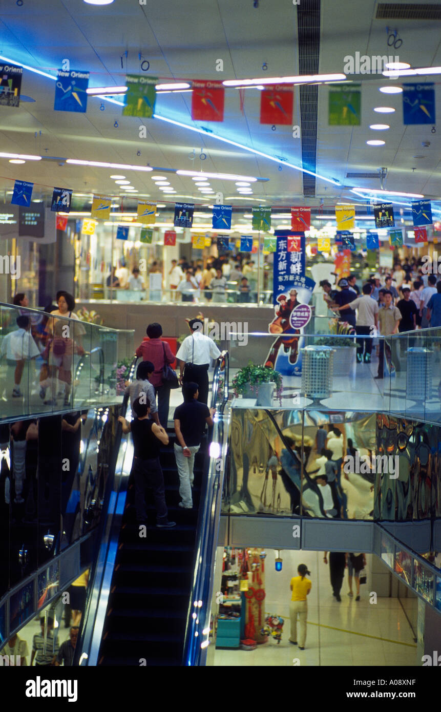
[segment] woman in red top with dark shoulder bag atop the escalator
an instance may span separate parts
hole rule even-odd
[[[143,361],[151,361],[155,366],[155,370],[150,376],[150,383],[155,388],[155,396],[157,395],[157,413],[160,424],[167,430],[170,389],[177,388],[179,385],[176,374],[175,382],[173,382],[172,374],[174,372],[170,368],[175,356],[172,354],[170,345],[161,340],[162,326],[160,324],[157,322],[149,324],[145,333],[148,339],[142,341],[135,354]]]

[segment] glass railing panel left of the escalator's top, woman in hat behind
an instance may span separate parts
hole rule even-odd
[[[118,402],[133,331],[0,304],[0,419]]]

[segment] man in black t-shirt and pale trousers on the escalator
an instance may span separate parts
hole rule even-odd
[[[192,484],[194,480],[194,456],[201,446],[205,424],[212,426],[216,409],[208,409],[205,403],[199,403],[197,383],[184,384],[184,402],[175,410],[175,459],[180,478],[179,493],[183,509],[192,509]]]

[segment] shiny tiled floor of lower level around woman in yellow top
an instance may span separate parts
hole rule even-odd
[[[394,666],[417,665],[414,632],[397,598],[380,598],[370,604],[370,555],[368,583],[362,585],[361,600],[348,597],[348,575],[341,590],[341,603],[336,602],[329,582],[328,565],[322,552],[289,551],[281,553],[283,569],[274,570],[274,551],[265,561],[266,614],[285,618],[280,644],[269,640],[255,650],[216,649],[214,665],[220,666]],[[299,563],[311,571],[311,593],[308,596],[308,627],[303,651],[289,643],[289,581],[296,575]],[[405,607],[416,605],[416,599],[405,600]],[[410,616],[412,619],[412,616]],[[298,662],[296,661],[298,659]]]

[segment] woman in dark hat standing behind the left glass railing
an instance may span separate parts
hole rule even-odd
[[[63,405],[71,405],[71,387],[72,387],[72,362],[73,354],[83,356],[82,337],[85,334],[85,328],[78,319],[78,316],[73,312],[75,309],[75,299],[71,294],[65,291],[60,291],[56,295],[58,309],[51,313],[51,318],[46,324],[46,332],[51,339],[48,347],[48,378],[40,381],[40,397],[43,398],[45,405],[56,405],[56,397],[46,398],[46,389],[56,388],[54,383],[58,376],[60,389],[64,384],[64,402]],[[57,319],[56,317],[65,317]],[[75,319],[77,324],[73,324],[69,319]]]

